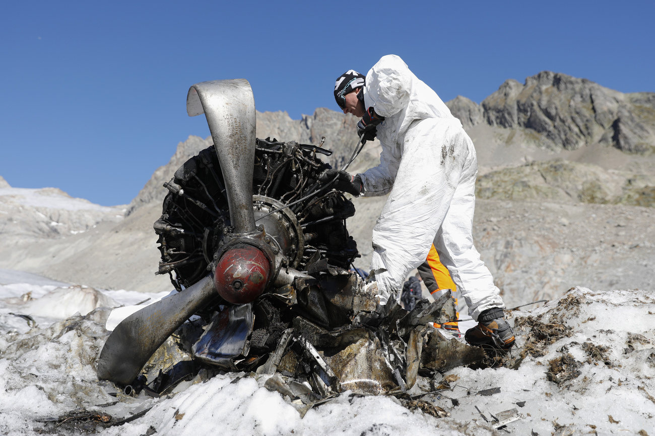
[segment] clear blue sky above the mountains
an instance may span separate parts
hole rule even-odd
[[[179,141],[189,86],[247,78],[257,110],[337,110],[334,80],[398,54],[443,101],[543,70],[655,92],[648,1],[30,1],[0,13],[0,175],[129,203]]]

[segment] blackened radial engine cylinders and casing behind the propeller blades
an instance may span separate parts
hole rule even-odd
[[[229,243],[227,235],[238,233],[231,222],[223,183],[229,176],[223,173],[215,148],[201,150],[176,172],[172,182],[183,194],[179,190],[168,193],[156,223],[159,273],[170,274],[178,290],[193,285],[212,269],[215,254]],[[348,267],[357,251],[348,241],[344,218],[352,215],[354,207],[341,193],[320,190],[316,180],[327,165],[295,143],[257,140],[253,166],[251,211],[255,226],[263,226],[271,238],[267,244],[273,254],[278,255],[277,249],[288,260],[285,266],[299,271],[316,252],[332,265]],[[316,196],[286,207],[310,192]]]

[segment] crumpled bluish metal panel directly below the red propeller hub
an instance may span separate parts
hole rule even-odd
[[[212,317],[212,321],[198,342],[193,345],[195,358],[232,371],[238,370],[234,361],[248,355],[248,336],[252,333],[252,303],[226,307]]]

